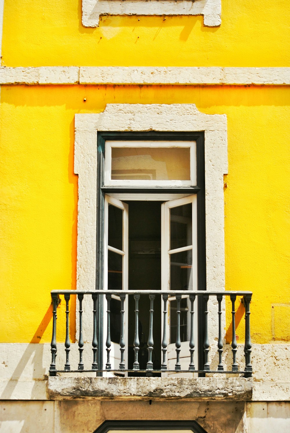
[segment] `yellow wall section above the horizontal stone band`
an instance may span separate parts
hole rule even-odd
[[[215,28],[202,16],[165,18],[108,16],[92,29],[81,0],[5,0],[2,65],[290,65],[287,0],[222,0]]]

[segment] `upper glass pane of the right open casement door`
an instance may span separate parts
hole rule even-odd
[[[192,204],[170,209],[170,249],[192,245]]]

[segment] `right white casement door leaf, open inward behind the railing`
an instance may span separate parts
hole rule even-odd
[[[197,290],[197,212],[196,195],[170,200],[162,205],[162,290]],[[180,304],[179,304],[180,303]],[[177,328],[176,310],[180,311],[180,326]],[[194,310],[194,340],[197,341],[197,309]],[[190,363],[190,301],[189,296],[176,300],[169,297],[167,335],[167,365],[174,370],[176,362],[176,338],[180,339],[181,370]],[[179,334],[179,335],[178,335]],[[194,364],[198,365],[197,350]],[[184,374],[182,374],[184,376]],[[192,374],[188,373],[189,376]]]

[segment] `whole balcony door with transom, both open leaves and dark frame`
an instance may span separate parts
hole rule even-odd
[[[202,338],[198,331],[198,302],[196,299],[192,316],[189,296],[184,295],[179,300],[175,295],[179,290],[190,292],[205,288],[204,135],[202,132],[101,134],[104,135],[99,138],[98,148],[99,180],[102,185],[99,196],[100,212],[103,209],[99,225],[100,244],[103,243],[100,249],[100,261],[103,262],[100,285],[104,290],[141,292],[138,352],[140,370],[146,369],[148,361],[150,319],[149,296],[142,295],[142,291],[172,291],[173,296],[169,296],[167,302],[167,369],[175,369],[176,310],[179,301],[181,369],[189,368],[189,333],[192,317],[194,364],[197,369],[201,363],[198,360],[198,348]],[[101,313],[104,318],[104,349],[108,327],[106,307],[104,304]],[[127,296],[124,310],[124,369],[132,370],[135,327],[133,296]],[[112,296],[110,311],[111,370],[116,370],[119,369],[121,361],[120,297]],[[200,329],[202,330],[202,327]],[[161,370],[162,336],[163,300],[162,296],[156,295],[153,314],[153,370]],[[105,356],[102,364],[105,369]],[[163,376],[170,374],[161,373]],[[192,377],[195,373],[175,372],[174,375],[176,374]],[[128,375],[139,374],[128,372]]]

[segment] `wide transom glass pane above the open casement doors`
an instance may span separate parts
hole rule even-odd
[[[189,147],[112,147],[112,180],[189,181]]]

